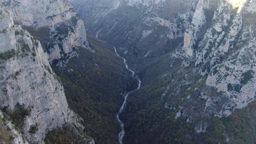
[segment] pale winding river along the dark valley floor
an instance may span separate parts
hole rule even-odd
[[[134,77],[134,78],[137,79],[137,81],[138,81],[138,87],[137,87],[136,89],[134,89],[134,90],[132,90],[132,91],[127,92],[127,93],[124,94],[124,103],[123,103],[123,105],[120,107],[119,112],[117,113],[117,121],[118,121],[118,123],[119,123],[119,125],[120,125],[120,127],[121,127],[121,131],[120,131],[120,133],[119,133],[119,135],[118,135],[118,137],[119,137],[119,143],[120,143],[120,144],[123,144],[123,139],[124,139],[124,135],[125,135],[125,130],[124,130],[124,123],[121,121],[121,119],[119,118],[119,116],[121,115],[121,113],[123,113],[123,111],[124,111],[124,109],[125,109],[125,106],[126,106],[126,103],[127,103],[127,98],[129,97],[129,95],[130,95],[131,93],[137,91],[139,88],[141,88],[141,80],[139,80],[139,78],[138,78],[137,76],[135,76],[135,72],[134,72],[133,70],[131,70],[131,69],[128,67],[128,65],[127,65],[127,63],[126,63],[126,59],[125,59],[124,57],[119,56],[119,54],[118,54],[118,52],[117,52],[117,49],[116,49],[115,47],[114,47],[114,49],[115,49],[115,53],[117,54],[117,56],[120,57],[120,58],[122,58],[122,59],[124,60],[125,68],[126,68],[127,70],[131,71],[132,77]]]

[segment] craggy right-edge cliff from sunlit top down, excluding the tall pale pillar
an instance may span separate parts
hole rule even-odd
[[[205,59],[197,58],[197,64],[202,64],[204,67],[202,75],[210,73],[206,84],[217,88],[217,91],[222,92],[224,97],[232,101],[232,105],[224,106],[226,109],[220,112],[220,114],[230,115],[232,112],[230,112],[230,107],[242,109],[254,101],[256,96],[256,45],[253,36],[256,23],[251,17],[255,12],[250,10],[255,2],[228,1],[222,2],[222,5],[223,7],[218,9],[219,13],[214,15],[215,21],[219,23],[217,22],[211,31],[213,32],[214,28],[220,25],[222,27],[216,28],[217,33],[210,38],[211,40],[209,39],[209,43],[212,41],[216,46],[209,49],[206,45],[200,50],[198,56],[205,57]],[[226,10],[225,7],[232,8],[233,15],[222,16]],[[230,17],[230,19],[221,22],[221,17]]]

